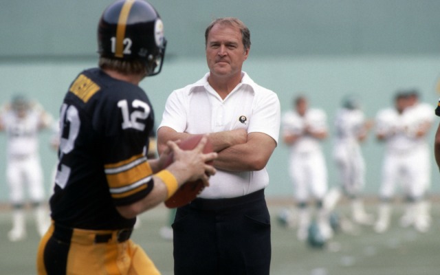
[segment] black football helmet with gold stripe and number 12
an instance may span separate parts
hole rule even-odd
[[[162,70],[165,47],[164,25],[150,3],[119,0],[102,13],[98,25],[101,56],[144,61],[148,76],[154,76]]]

